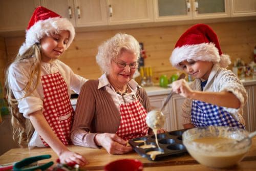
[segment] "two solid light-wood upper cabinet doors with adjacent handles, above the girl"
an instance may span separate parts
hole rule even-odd
[[[40,5],[69,18],[75,27],[107,25],[105,0],[40,0]]]

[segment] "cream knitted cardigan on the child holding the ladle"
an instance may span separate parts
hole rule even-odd
[[[195,79],[189,84],[189,87],[192,90],[201,91],[201,80]],[[211,73],[209,75],[208,81],[203,89],[203,91],[209,92],[221,92],[228,91],[233,93],[240,100],[240,108],[225,108],[234,119],[244,124],[243,115],[243,106],[247,101],[248,95],[246,90],[239,80],[239,78],[234,75],[230,70],[220,67],[219,63],[215,63],[212,67]],[[193,99],[185,99],[182,105],[182,116],[184,117],[183,124],[191,123],[191,105]]]

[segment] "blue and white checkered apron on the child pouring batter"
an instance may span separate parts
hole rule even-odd
[[[191,122],[196,127],[230,126],[245,129],[245,126],[234,119],[223,107],[193,100]]]

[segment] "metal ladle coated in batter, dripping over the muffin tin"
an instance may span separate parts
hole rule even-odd
[[[182,73],[179,79],[185,78],[185,74]],[[173,90],[170,91],[170,93],[167,95],[167,98],[165,99],[162,108],[160,109],[160,111],[150,111],[149,113],[147,113],[146,116],[146,124],[151,127],[153,130],[154,129],[160,129],[161,127],[163,127],[164,122],[165,122],[165,117],[164,114],[162,113],[162,110],[164,109],[164,107],[166,106],[166,104],[168,103],[168,101],[170,100],[170,98],[172,97],[172,95],[174,94]]]

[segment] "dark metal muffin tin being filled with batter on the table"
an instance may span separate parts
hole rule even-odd
[[[157,161],[168,156],[183,155],[184,153],[187,152],[185,146],[182,143],[182,134],[184,131],[186,130],[177,130],[177,131],[157,134],[157,139],[158,139],[160,148],[158,148],[156,144],[155,135],[147,135],[144,137],[134,138],[129,140],[129,143],[131,144],[133,149],[142,157],[145,157],[151,161]],[[135,142],[139,140],[143,140],[144,142]],[[144,144],[152,144],[152,145],[155,145],[156,147],[141,148],[140,146]],[[151,155],[146,154],[150,151],[159,151],[159,152],[162,152],[163,154],[156,155],[155,160],[153,160],[151,158]]]

